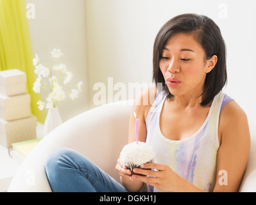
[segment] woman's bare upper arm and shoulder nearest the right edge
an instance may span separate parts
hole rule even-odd
[[[235,101],[221,111],[219,136],[214,192],[237,192],[250,153],[250,131],[246,114]]]

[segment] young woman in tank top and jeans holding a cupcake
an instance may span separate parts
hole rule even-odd
[[[250,152],[246,114],[228,95],[226,51],[221,32],[203,15],[183,14],[164,24],[153,48],[155,87],[133,105],[128,142],[156,153],[132,175],[117,160],[121,184],[69,149],[49,156],[46,172],[56,192],[237,192]],[[145,97],[155,99],[143,104]],[[151,170],[150,170],[151,169]]]

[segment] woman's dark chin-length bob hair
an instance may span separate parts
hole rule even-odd
[[[207,73],[203,93],[201,94],[203,95],[201,106],[206,106],[222,90],[227,81],[226,46],[221,31],[209,17],[193,13],[178,15],[162,26],[155,38],[153,47],[153,81],[156,85],[162,83],[163,90],[168,93],[167,98],[169,99],[173,95],[167,88],[159,67],[159,61],[167,40],[176,33],[191,33],[194,35],[194,39],[205,51],[205,60],[209,60],[214,55],[218,56],[214,69]]]

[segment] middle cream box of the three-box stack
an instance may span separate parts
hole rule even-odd
[[[30,117],[30,94],[8,97],[0,94],[0,118],[6,121]]]

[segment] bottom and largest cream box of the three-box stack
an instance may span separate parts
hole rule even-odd
[[[11,147],[14,142],[37,138],[37,118],[34,115],[24,119],[5,121],[0,119],[0,143]]]

